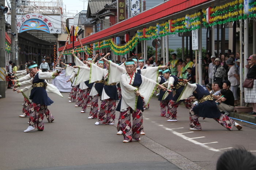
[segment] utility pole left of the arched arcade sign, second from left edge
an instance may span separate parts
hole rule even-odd
[[[16,21],[16,0],[11,0],[11,59],[15,62],[16,66],[18,63],[18,33],[17,33],[17,21]]]

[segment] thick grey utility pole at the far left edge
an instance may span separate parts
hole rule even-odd
[[[0,0],[0,6],[5,7],[5,1]],[[0,10],[0,70],[5,70],[5,15],[2,10]],[[5,98],[5,86],[6,86],[6,81],[5,81],[5,72],[0,73],[0,95],[2,98]],[[3,79],[2,79],[3,78]]]

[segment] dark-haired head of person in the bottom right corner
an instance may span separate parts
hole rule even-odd
[[[245,149],[232,149],[224,152],[218,159],[217,170],[255,170],[256,157]]]

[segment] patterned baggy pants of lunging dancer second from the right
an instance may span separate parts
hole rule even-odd
[[[167,112],[168,115],[166,115],[166,118],[168,119],[176,119],[177,117],[177,108],[180,105],[182,101],[175,102],[173,100],[170,100],[169,102],[169,112]],[[191,108],[191,102],[190,100],[183,100],[183,103],[186,108]]]

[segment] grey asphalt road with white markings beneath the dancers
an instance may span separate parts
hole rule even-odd
[[[49,106],[54,122],[44,131],[23,133],[28,118],[19,118],[23,96],[7,90],[0,99],[0,169],[215,169],[223,151],[244,146],[256,154],[255,126],[227,131],[213,119],[202,120],[202,131],[189,131],[188,109],[178,108],[178,122],[167,122],[152,99],[143,112],[145,136],[123,143],[112,125],[94,125],[80,108],[54,94]],[[118,118],[118,112],[116,115]]]

